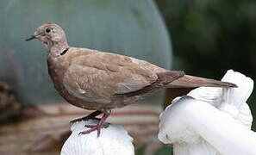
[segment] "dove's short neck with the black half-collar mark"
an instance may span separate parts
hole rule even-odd
[[[59,40],[58,42],[49,41],[46,46],[49,54],[53,57],[59,57],[64,51],[66,51],[66,49],[69,48],[66,40]]]

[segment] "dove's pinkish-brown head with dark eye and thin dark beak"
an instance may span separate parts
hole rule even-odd
[[[60,48],[68,46],[64,30],[59,25],[53,23],[41,25],[27,41],[34,39],[41,40],[49,49],[53,46]]]

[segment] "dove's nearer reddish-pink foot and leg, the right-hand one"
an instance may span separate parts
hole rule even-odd
[[[91,129],[80,132],[79,134],[87,134],[87,133],[97,131],[97,137],[99,137],[100,133],[101,133],[101,129],[109,127],[109,123],[105,122],[107,120],[107,118],[109,117],[109,115],[110,115],[110,113],[104,113],[103,117],[100,119],[100,121],[98,121],[97,125],[85,125],[84,127],[89,127]]]

